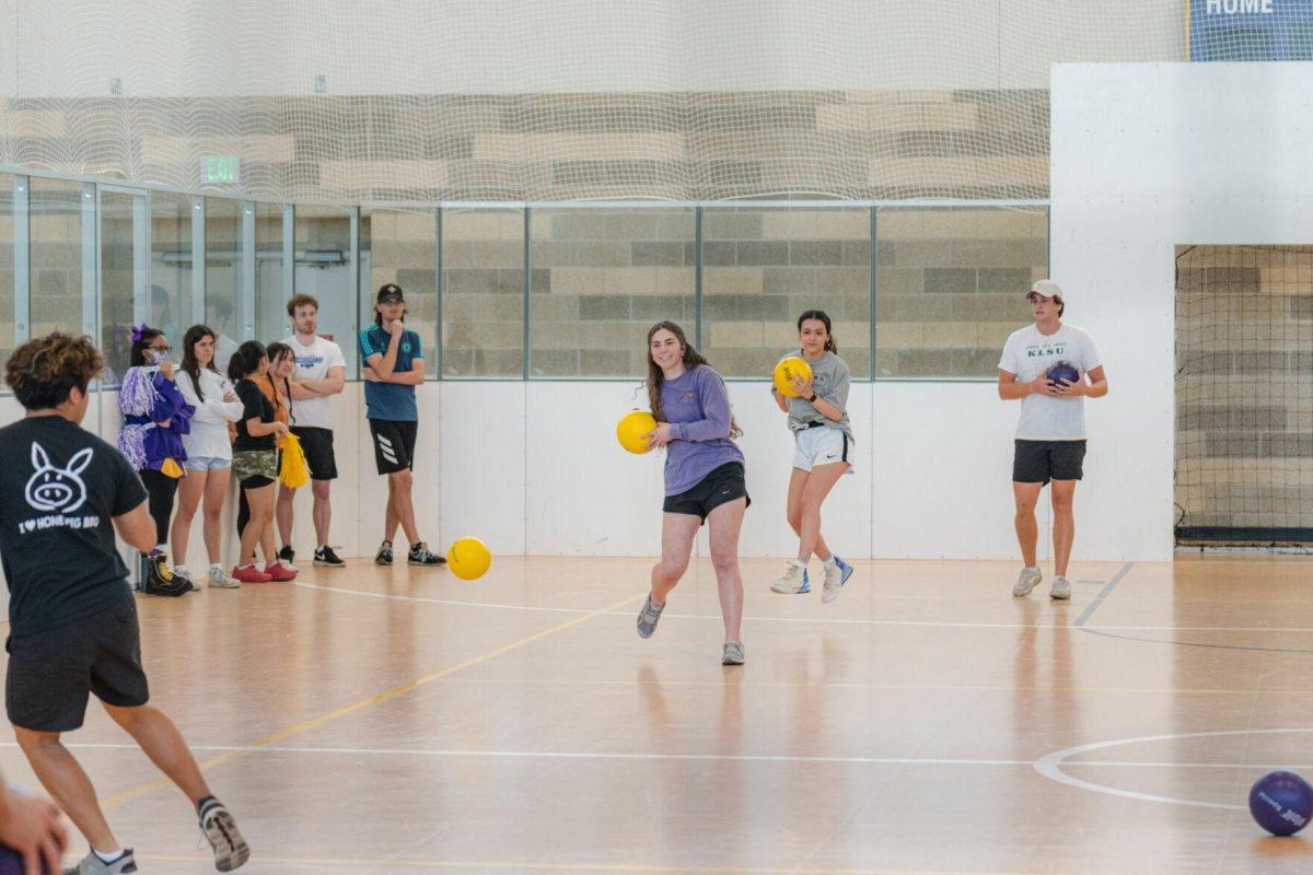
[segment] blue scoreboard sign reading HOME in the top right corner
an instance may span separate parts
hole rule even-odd
[[[1313,0],[1187,0],[1191,60],[1313,60]]]

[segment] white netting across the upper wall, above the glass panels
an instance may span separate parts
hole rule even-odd
[[[314,201],[1027,198],[1180,0],[0,0],[0,163]],[[316,93],[322,76],[324,91]],[[116,93],[117,92],[117,93]]]

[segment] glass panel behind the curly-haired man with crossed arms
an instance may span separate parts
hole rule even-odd
[[[319,333],[341,346],[347,378],[358,371],[356,336],[356,272],[351,261],[351,210],[335,206],[297,206],[297,293],[319,302]],[[290,295],[289,295],[290,296]]]

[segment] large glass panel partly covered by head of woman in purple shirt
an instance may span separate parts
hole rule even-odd
[[[642,376],[647,329],[695,324],[697,214],[536,209],[529,215],[529,371]]]

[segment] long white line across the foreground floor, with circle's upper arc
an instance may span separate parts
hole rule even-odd
[[[1313,729],[1272,729],[1272,732],[1313,732]],[[1201,735],[1234,735],[1226,732]],[[1159,736],[1162,739],[1178,739],[1186,736]],[[1132,741],[1145,741],[1146,739],[1130,739],[1128,741],[1098,743],[1086,749],[1098,746],[1111,746],[1115,744],[1130,744]],[[17,748],[13,741],[0,744],[0,748]],[[70,744],[64,745],[70,750],[137,750],[131,743],[106,744]],[[1054,754],[1048,754],[1041,760],[977,760],[970,757],[798,757],[788,754],[733,754],[733,753],[604,753],[588,750],[435,750],[423,748],[306,748],[274,745],[248,746],[248,745],[222,745],[222,744],[194,744],[192,750],[206,753],[227,753],[232,750],[247,750],[249,753],[295,753],[295,754],[334,754],[351,757],[431,757],[431,758],[482,758],[482,760],[655,760],[655,761],[689,761],[689,762],[796,762],[796,763],[839,763],[839,765],[876,765],[876,766],[1028,766],[1039,769],[1043,760]],[[1071,748],[1070,750],[1077,750]],[[1062,753],[1062,752],[1060,752]],[[1090,760],[1083,762],[1064,762],[1064,767],[1092,767],[1092,769],[1313,769],[1313,763],[1262,763],[1262,762],[1150,762],[1142,760]],[[1048,775],[1045,775],[1048,777]],[[1171,800],[1169,800],[1171,802]]]

